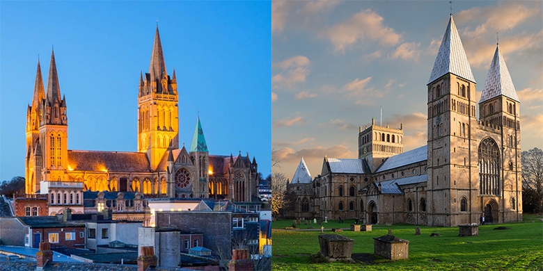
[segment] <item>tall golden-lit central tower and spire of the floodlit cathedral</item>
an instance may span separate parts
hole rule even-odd
[[[139,77],[138,151],[146,152],[150,169],[155,170],[168,147],[179,148],[178,83],[166,62],[157,26],[149,72]]]

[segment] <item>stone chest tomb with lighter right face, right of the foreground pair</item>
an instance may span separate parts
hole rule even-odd
[[[395,236],[374,237],[373,253],[391,261],[409,258],[409,241]]]

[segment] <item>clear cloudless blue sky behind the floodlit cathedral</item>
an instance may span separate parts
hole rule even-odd
[[[26,106],[38,54],[54,45],[68,105],[68,149],[136,151],[140,71],[156,21],[178,78],[180,145],[198,111],[210,154],[255,156],[271,172],[269,1],[1,1],[0,180],[24,176]]]

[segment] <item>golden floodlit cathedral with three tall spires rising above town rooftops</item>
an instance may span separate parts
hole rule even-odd
[[[68,106],[54,53],[45,93],[38,61],[26,113],[26,193],[39,192],[41,181],[53,181],[83,183],[87,191],[141,192],[145,197],[249,202],[258,196],[255,158],[251,161],[241,152],[209,154],[199,118],[190,149],[179,148],[178,82],[175,70],[172,76],[166,71],[158,27],[149,72],[140,74],[137,95],[137,152],[69,150]]]

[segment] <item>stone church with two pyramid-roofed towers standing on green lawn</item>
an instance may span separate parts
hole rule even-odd
[[[304,159],[288,186],[293,217],[457,226],[522,219],[519,98],[499,46],[480,100],[453,15],[427,83],[427,145],[403,152],[403,127],[358,134],[358,159]],[[479,110],[479,120],[476,118]]]

